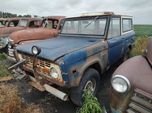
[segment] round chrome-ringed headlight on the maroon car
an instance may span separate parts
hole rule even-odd
[[[130,89],[129,80],[122,75],[115,75],[111,80],[111,85],[119,93],[125,93]]]

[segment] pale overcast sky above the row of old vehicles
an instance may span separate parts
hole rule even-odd
[[[113,11],[132,15],[135,24],[152,24],[152,0],[0,0],[0,11],[40,16]]]

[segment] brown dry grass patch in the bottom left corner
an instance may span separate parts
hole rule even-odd
[[[37,105],[25,105],[18,96],[17,87],[0,84],[0,113],[43,113]]]

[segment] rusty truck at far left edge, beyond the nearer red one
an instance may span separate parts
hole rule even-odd
[[[12,20],[12,19],[11,19]],[[41,18],[22,18],[13,19],[14,22],[6,22],[6,26],[11,27],[2,27],[0,28],[0,52],[7,53],[8,51],[8,42],[9,42],[9,35],[13,32],[24,30],[28,28],[35,28],[41,27],[42,19]],[[17,26],[16,26],[17,25]]]

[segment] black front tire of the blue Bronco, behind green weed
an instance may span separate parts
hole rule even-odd
[[[84,76],[82,77],[79,86],[71,89],[71,94],[70,94],[71,101],[77,106],[82,106],[83,103],[82,96],[84,89],[90,88],[89,85],[93,85],[94,88],[90,88],[90,89],[93,89],[92,93],[93,95],[96,95],[99,89],[99,83],[100,83],[100,74],[98,73],[97,70],[89,68],[84,73]]]

